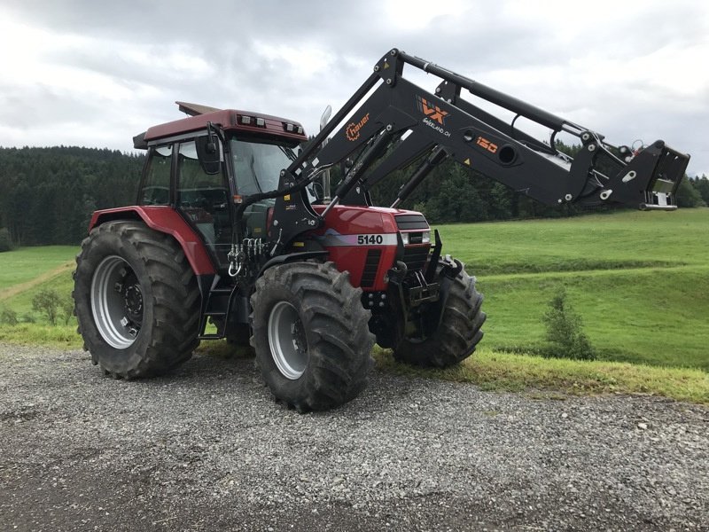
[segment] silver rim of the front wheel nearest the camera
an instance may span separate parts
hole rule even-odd
[[[287,301],[271,310],[269,347],[278,371],[286,379],[299,379],[308,365],[308,344],[298,311]]]

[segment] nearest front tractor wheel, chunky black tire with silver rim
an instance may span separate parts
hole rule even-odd
[[[266,270],[251,297],[252,346],[264,382],[300,413],[351,401],[373,365],[370,311],[362,289],[332,262]]]

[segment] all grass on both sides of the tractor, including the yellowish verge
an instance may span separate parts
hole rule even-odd
[[[488,318],[478,356],[455,371],[427,374],[484,387],[647,392],[709,403],[709,208],[438,229],[445,253],[478,277]],[[0,254],[0,309],[37,320],[0,325],[0,340],[81,346],[75,323],[43,325],[31,304],[48,286],[68,297],[77,251]],[[544,340],[541,316],[559,286],[601,361],[518,356]],[[382,368],[408,371],[386,352],[376,358]]]

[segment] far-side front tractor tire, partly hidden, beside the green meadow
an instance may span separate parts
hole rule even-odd
[[[480,310],[482,294],[475,278],[465,269],[453,279],[439,328],[426,340],[402,339],[393,351],[398,362],[423,367],[447,368],[471,356],[482,340],[480,327],[485,312]]]

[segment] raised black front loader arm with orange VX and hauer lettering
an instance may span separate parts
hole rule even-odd
[[[406,79],[404,66],[440,78],[435,93]],[[515,119],[507,123],[474,106],[461,97],[464,90],[515,113]],[[548,143],[517,129],[515,121],[520,116],[548,128]],[[560,131],[580,139],[581,150],[575,158],[555,148]],[[302,184],[354,154],[354,166],[331,203],[316,215]],[[274,219],[285,218],[291,226],[296,218],[302,220],[295,232],[312,229],[339,202],[370,204],[368,190],[373,184],[417,161],[393,203],[396,207],[445,159],[474,168],[549,206],[577,203],[670,210],[676,208],[675,192],[690,156],[661,140],[632,153],[627,146],[608,144],[592,129],[394,49],[378,61],[360,89],[282,172],[279,189],[299,192],[300,208],[294,213],[292,202],[286,206],[277,201]]]

